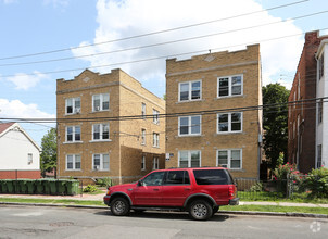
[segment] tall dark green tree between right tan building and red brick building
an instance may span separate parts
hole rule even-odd
[[[264,105],[277,104],[263,109],[263,148],[269,159],[269,167],[275,169],[280,153],[285,158],[287,155],[289,90],[276,83],[263,87],[262,93]]]

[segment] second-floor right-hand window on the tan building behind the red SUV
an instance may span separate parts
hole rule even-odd
[[[240,133],[242,131],[242,113],[217,114],[217,133]]]

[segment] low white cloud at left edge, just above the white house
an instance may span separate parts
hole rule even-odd
[[[24,104],[20,100],[0,99],[0,117],[4,118],[55,118],[38,109],[37,104]]]

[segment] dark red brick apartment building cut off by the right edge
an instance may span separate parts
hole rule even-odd
[[[324,76],[327,39],[328,36],[319,36],[319,32],[305,34],[303,51],[288,99],[289,102],[297,101],[289,105],[288,111],[288,160],[295,163],[302,173],[321,166],[323,150],[327,155],[327,144],[326,148],[323,147],[323,136],[327,135],[323,124],[323,102],[311,100],[328,96],[327,74]],[[327,61],[325,65],[327,68]],[[324,116],[326,114],[327,110]],[[325,125],[327,127],[327,123]]]

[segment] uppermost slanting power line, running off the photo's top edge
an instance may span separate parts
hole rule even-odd
[[[85,45],[85,46],[79,46],[79,47],[72,47],[72,48],[63,48],[63,49],[51,50],[51,51],[43,51],[43,52],[38,52],[38,53],[7,56],[7,58],[1,58],[0,61],[2,61],[2,60],[10,60],[10,59],[17,59],[17,58],[36,56],[36,55],[41,55],[41,54],[50,54],[50,53],[56,53],[56,52],[62,52],[62,51],[71,51],[71,50],[74,50],[74,49],[93,47],[93,46],[99,46],[99,45],[104,45],[104,43],[112,43],[112,42],[116,42],[116,41],[123,41],[123,40],[129,40],[129,39],[135,39],[135,38],[151,36],[151,35],[156,35],[156,34],[163,34],[163,33],[168,33],[168,32],[174,32],[174,30],[190,28],[190,27],[194,27],[194,26],[201,26],[201,25],[205,25],[205,24],[211,24],[211,23],[215,23],[215,22],[227,21],[227,20],[237,18],[237,17],[241,17],[241,16],[252,15],[252,14],[256,14],[256,13],[261,13],[261,12],[266,12],[266,11],[272,11],[272,10],[276,10],[276,9],[281,9],[281,8],[286,8],[286,7],[291,7],[291,5],[304,3],[304,2],[307,2],[307,1],[308,0],[302,0],[302,1],[291,2],[291,3],[287,3],[287,4],[282,4],[282,5],[277,5],[277,7],[260,10],[260,11],[243,13],[243,14],[239,14],[239,15],[235,15],[235,16],[228,16],[228,17],[218,18],[218,20],[212,20],[212,21],[207,21],[207,22],[203,22],[203,23],[185,25],[185,26],[179,26],[179,27],[175,27],[175,28],[168,28],[168,29],[164,29],[164,30],[157,30],[157,32],[152,32],[152,33],[136,35],[136,36],[130,36],[130,37],[125,37],[125,38],[118,38],[118,39],[113,39],[113,40],[98,42],[98,43],[90,43],[90,45]]]

